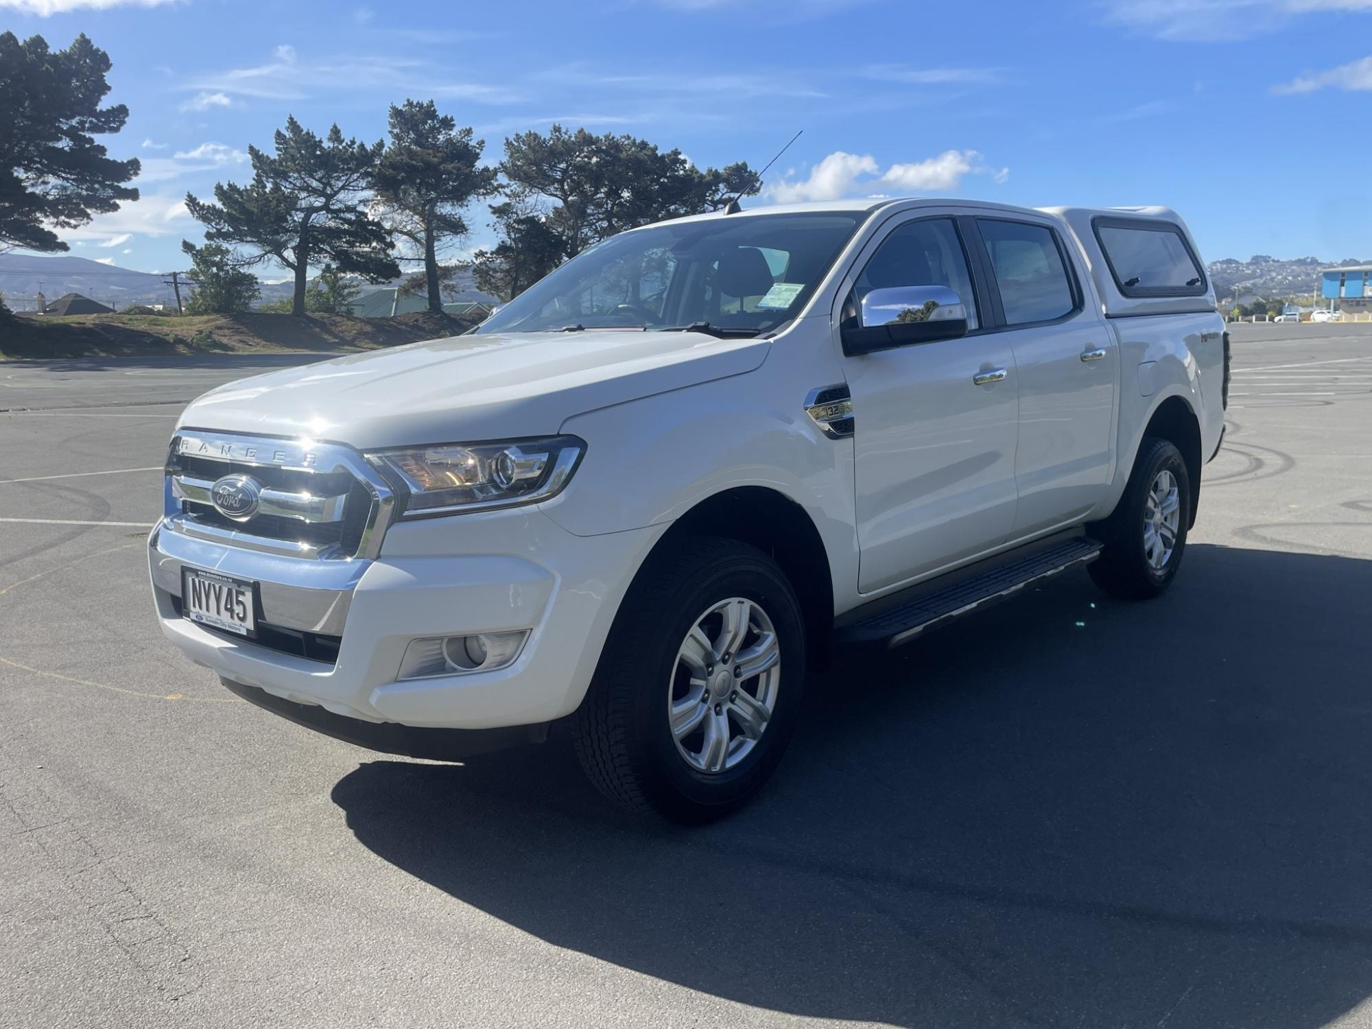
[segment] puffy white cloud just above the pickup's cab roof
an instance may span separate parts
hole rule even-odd
[[[767,193],[778,203],[794,203],[886,192],[949,192],[958,189],[969,174],[985,174],[1000,184],[1010,177],[1010,169],[986,166],[974,150],[948,150],[925,161],[890,165],[882,172],[870,154],[840,150],[815,165],[804,180],[790,181],[792,173],[788,172],[781,182],[768,187]]]

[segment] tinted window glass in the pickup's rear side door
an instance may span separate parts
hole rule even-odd
[[[1056,321],[1077,309],[1052,229],[999,218],[978,218],[977,225],[996,273],[1007,325]]]

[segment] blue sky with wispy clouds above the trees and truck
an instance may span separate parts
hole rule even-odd
[[[0,0],[4,29],[110,54],[143,199],[66,239],[123,268],[182,266],[185,192],[288,114],[370,141],[407,96],[493,159],[561,121],[760,167],[804,129],[767,196],[1162,203],[1207,259],[1372,258],[1372,0]]]

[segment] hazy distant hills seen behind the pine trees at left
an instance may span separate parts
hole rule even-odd
[[[34,310],[41,291],[48,300],[64,294],[81,294],[117,310],[130,303],[176,303],[166,276],[151,272],[133,272],[128,268],[104,265],[89,258],[60,255],[33,257],[27,254],[0,254],[0,294],[14,310]],[[364,284],[362,292],[387,289],[399,285],[401,280],[380,284]],[[262,283],[261,302],[280,300],[291,295],[291,283]],[[445,300],[480,300],[495,303],[495,298],[479,291],[471,272],[457,276],[458,292],[445,294]],[[181,299],[189,294],[182,288]]]

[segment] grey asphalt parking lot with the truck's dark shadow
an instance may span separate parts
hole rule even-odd
[[[4,1025],[1372,1025],[1372,327],[1235,329],[1165,598],[844,654],[693,831],[558,734],[390,759],[163,642],[166,438],[268,364],[0,364]]]

